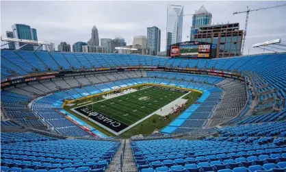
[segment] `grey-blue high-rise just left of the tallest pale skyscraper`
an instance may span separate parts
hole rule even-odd
[[[161,45],[161,30],[158,27],[147,27],[147,49],[149,54],[156,56],[156,53],[160,51]]]

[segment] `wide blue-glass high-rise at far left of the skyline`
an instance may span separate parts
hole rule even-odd
[[[13,30],[14,38],[25,39],[25,40],[38,40],[37,30],[34,28],[31,28],[29,25],[14,24],[12,25],[12,30]],[[18,49],[19,47],[23,45],[25,45],[25,43],[15,42],[16,49]],[[22,47],[21,49],[25,51],[33,51],[36,47],[38,46],[25,45],[25,47]]]

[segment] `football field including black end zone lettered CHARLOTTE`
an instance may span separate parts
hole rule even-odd
[[[73,111],[115,132],[120,132],[186,93],[188,92],[184,90],[152,86],[73,108]]]

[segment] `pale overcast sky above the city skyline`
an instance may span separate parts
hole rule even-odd
[[[37,29],[38,40],[57,45],[87,42],[92,26],[99,29],[99,38],[122,36],[127,45],[133,36],[147,34],[146,27],[161,29],[161,51],[166,49],[167,5],[183,5],[184,14],[193,14],[205,5],[213,15],[212,23],[239,23],[244,29],[246,13],[235,11],[268,7],[285,1],[1,1],[1,36],[12,31],[14,23],[23,23]],[[286,43],[286,6],[250,12],[244,54],[261,53],[251,45],[282,38]],[[190,36],[192,16],[184,16],[183,41]]]

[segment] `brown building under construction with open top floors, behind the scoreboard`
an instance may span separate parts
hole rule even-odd
[[[239,23],[207,25],[199,27],[194,40],[217,45],[216,58],[226,58],[241,55],[243,34]]]

